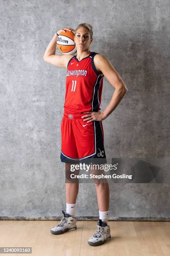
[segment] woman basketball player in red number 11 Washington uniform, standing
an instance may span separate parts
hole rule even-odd
[[[70,54],[56,55],[57,36],[63,31],[74,31],[77,56]],[[64,115],[61,122],[61,161],[65,162],[66,175],[71,164],[84,159],[103,159],[106,163],[102,120],[105,120],[120,103],[128,91],[118,72],[110,61],[96,52],[90,51],[92,26],[81,23],[73,28],[56,31],[44,54],[44,61],[67,69]],[[111,50],[111,49],[110,49]],[[109,51],[110,51],[109,50]],[[112,99],[103,112],[100,111],[103,77],[115,87]],[[99,220],[97,231],[88,240],[92,246],[102,245],[111,238],[107,224],[109,210],[109,185],[96,183]],[[75,230],[75,205],[79,183],[65,184],[66,212],[59,225],[53,227],[52,234],[62,234]]]

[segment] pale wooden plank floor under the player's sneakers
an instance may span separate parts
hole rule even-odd
[[[0,220],[0,247],[32,247],[32,256],[170,256],[170,222],[109,221],[111,241],[90,246],[96,221],[77,221],[77,230],[53,235],[54,220]],[[4,255],[4,254],[2,254]]]

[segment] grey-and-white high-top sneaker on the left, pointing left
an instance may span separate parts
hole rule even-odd
[[[71,217],[70,214],[62,211],[64,217],[62,217],[60,224],[54,226],[50,232],[55,235],[65,233],[66,231],[71,231],[77,229],[76,218]]]

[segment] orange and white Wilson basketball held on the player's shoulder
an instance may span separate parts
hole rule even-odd
[[[66,30],[57,37],[57,47],[62,54],[75,54],[77,49],[74,42],[74,33]]]

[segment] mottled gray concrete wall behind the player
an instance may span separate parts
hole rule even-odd
[[[52,219],[65,210],[66,69],[43,61],[56,29],[90,23],[90,50],[107,56],[128,87],[103,121],[107,157],[170,156],[169,0],[2,0],[0,10],[1,218]],[[101,110],[113,92],[104,78]],[[168,218],[169,197],[169,184],[112,184],[110,219]],[[94,184],[80,184],[76,214],[98,216]]]

